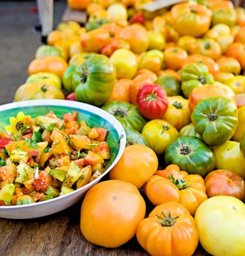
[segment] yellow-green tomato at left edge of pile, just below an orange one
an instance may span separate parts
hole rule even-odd
[[[37,74],[31,75],[27,78],[26,83],[29,82],[44,82],[50,83],[57,89],[61,90],[61,79],[55,73],[50,72],[39,72]]]

